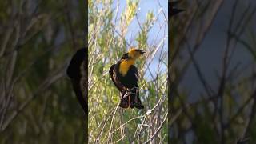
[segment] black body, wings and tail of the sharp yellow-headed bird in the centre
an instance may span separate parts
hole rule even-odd
[[[128,59],[128,54],[123,54],[120,61],[117,64],[114,64],[110,67],[109,73],[114,85],[118,88],[121,96],[121,102],[119,104],[122,108],[138,108],[143,109],[144,106],[139,98],[139,89],[138,89],[138,70],[134,65],[129,67],[127,74],[122,76],[120,74],[120,64],[122,61]]]

